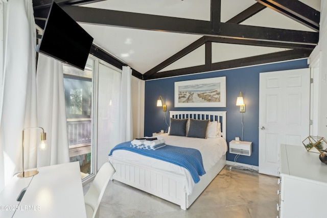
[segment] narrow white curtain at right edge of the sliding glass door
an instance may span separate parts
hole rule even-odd
[[[132,69],[123,66],[121,82],[120,139],[121,142],[132,140]]]

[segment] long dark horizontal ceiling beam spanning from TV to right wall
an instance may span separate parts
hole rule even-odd
[[[214,33],[212,31],[211,21],[205,20],[193,20],[68,5],[64,5],[62,8],[78,22],[122,28],[314,45],[318,43],[319,35],[315,32],[252,27],[232,23],[220,23],[220,33]]]

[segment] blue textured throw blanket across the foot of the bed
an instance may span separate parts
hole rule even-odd
[[[111,151],[109,156],[114,150],[127,150],[137,154],[153,157],[159,160],[164,160],[182,166],[191,173],[195,183],[200,181],[200,177],[205,174],[201,153],[196,149],[181,148],[176,146],[169,146],[157,150],[137,149],[130,147],[131,142],[123,142],[116,145]]]

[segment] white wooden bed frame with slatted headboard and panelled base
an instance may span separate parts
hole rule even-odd
[[[222,137],[226,138],[226,111],[170,111],[170,117],[216,120],[222,124]],[[109,161],[116,170],[112,179],[180,205],[181,209],[186,210],[226,165],[226,154],[200,177],[200,182],[195,184],[191,195],[185,192],[185,178],[182,175],[129,163],[112,156],[109,156]]]

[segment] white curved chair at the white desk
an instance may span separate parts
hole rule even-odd
[[[108,185],[111,176],[115,173],[111,163],[103,164],[96,175],[94,181],[90,184],[88,191],[84,196],[85,210],[87,218],[96,218],[100,214],[100,202],[103,193]]]

